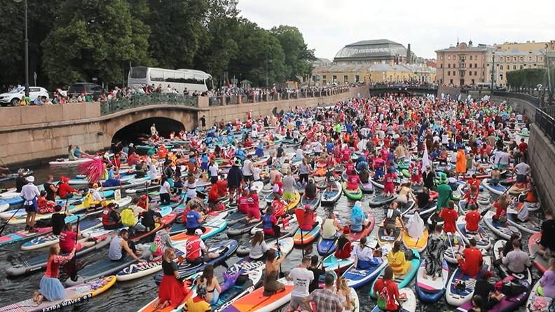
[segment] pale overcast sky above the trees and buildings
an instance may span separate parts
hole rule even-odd
[[[263,28],[298,27],[317,57],[333,60],[348,43],[390,39],[421,57],[472,39],[477,43],[555,40],[555,1],[239,0]]]

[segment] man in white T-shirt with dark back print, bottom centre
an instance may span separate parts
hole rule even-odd
[[[298,268],[292,269],[287,276],[287,280],[293,281],[293,290],[291,292],[291,302],[287,311],[296,311],[301,308],[302,311],[311,311],[312,309],[308,304],[303,303],[304,299],[308,297],[308,287],[314,279],[314,273],[308,270],[310,266],[310,258],[304,257],[303,262]]]

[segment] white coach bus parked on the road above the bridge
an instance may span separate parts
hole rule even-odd
[[[162,84],[163,90],[170,85],[179,93],[184,90],[205,92],[212,90],[212,76],[195,69],[163,69],[156,67],[131,67],[128,86],[144,86]]]

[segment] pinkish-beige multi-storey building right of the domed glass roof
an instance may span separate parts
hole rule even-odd
[[[436,83],[447,86],[475,86],[486,83],[488,53],[491,46],[457,43],[456,46],[437,50]]]

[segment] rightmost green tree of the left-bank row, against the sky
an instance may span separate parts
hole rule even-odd
[[[280,41],[285,53],[286,77],[299,81],[299,77],[312,74],[310,62],[315,60],[314,51],[308,50],[299,29],[292,26],[280,25],[273,27],[270,32]]]

